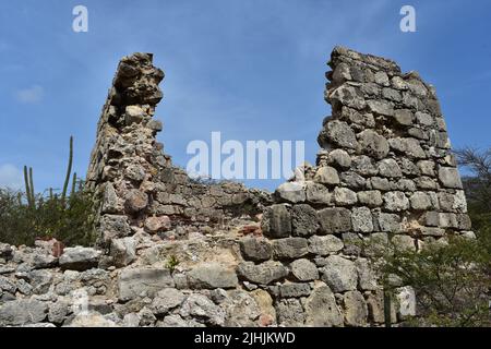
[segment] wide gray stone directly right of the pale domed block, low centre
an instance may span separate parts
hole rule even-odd
[[[267,261],[261,264],[240,263],[237,267],[239,277],[254,284],[270,285],[288,275],[288,269],[279,262]]]

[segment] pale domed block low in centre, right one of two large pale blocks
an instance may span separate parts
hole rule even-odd
[[[188,273],[188,282],[191,288],[215,289],[235,288],[238,285],[233,269],[215,263],[203,264]]]

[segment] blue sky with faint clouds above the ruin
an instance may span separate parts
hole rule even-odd
[[[88,32],[72,9],[88,9]],[[417,32],[399,31],[403,4]],[[22,0],[0,11],[0,186],[61,188],[68,141],[85,176],[96,123],[117,63],[155,53],[164,69],[159,140],[185,166],[192,140],[304,140],[330,115],[325,65],[335,45],[396,60],[436,86],[454,147],[489,147],[490,1]],[[274,189],[280,181],[248,185]]]

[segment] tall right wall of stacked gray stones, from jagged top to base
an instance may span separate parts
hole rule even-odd
[[[282,280],[274,288],[280,323],[381,323],[382,290],[367,256],[474,233],[434,88],[391,60],[342,47],[328,64],[333,116],[318,137],[316,166],[277,189],[262,222],[271,244],[248,245],[278,261],[266,263],[275,263]],[[271,264],[239,267],[250,281],[266,270]],[[402,287],[398,298],[394,321],[415,314],[412,289]],[[313,306],[326,311],[313,316]]]

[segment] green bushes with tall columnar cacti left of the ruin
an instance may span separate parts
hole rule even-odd
[[[33,169],[24,166],[25,192],[0,189],[0,241],[34,244],[36,238],[56,238],[67,245],[93,244],[92,195],[83,181],[73,176],[70,196],[67,191],[73,159],[70,137],[69,166],[61,196],[50,188],[48,194],[35,194]]]

